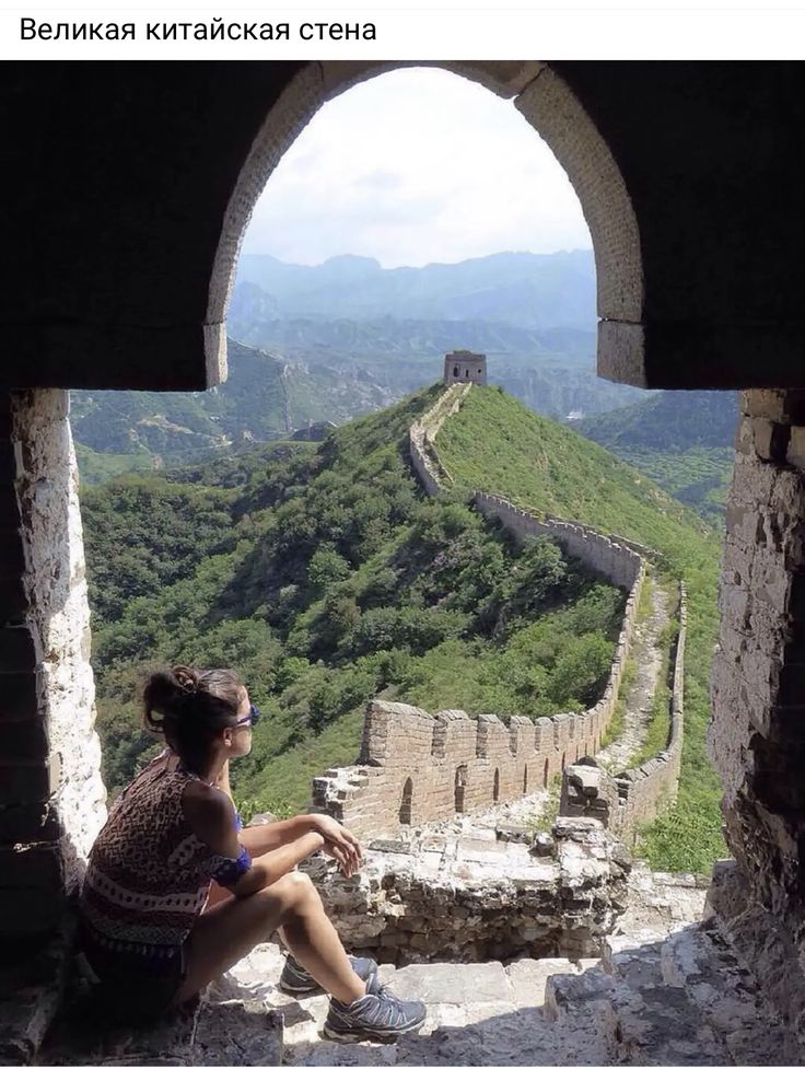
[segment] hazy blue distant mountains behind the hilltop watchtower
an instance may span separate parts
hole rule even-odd
[[[85,479],[343,422],[434,382],[455,348],[486,352],[490,382],[555,419],[644,396],[595,375],[592,252],[394,270],[359,256],[303,267],[245,255],[237,279],[225,383],[73,394]]]

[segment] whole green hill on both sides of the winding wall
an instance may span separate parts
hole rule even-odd
[[[715,532],[497,387],[471,391],[440,433],[456,499],[424,499],[407,429],[440,388],[322,443],[278,442],[84,489],[108,781],[119,785],[148,751],[137,688],[171,661],[236,666],[264,709],[235,779],[247,812],[301,806],[312,775],[350,763],[373,695],[502,714],[588,702],[621,595],[551,545],[518,550],[465,503],[470,488],[486,488],[637,538],[686,579],[682,789],[645,844],[658,865],[705,869],[723,851],[703,747]]]

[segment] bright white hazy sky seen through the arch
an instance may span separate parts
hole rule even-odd
[[[381,74],[326,104],[268,181],[243,252],[384,267],[590,248],[579,200],[511,101],[447,71]]]

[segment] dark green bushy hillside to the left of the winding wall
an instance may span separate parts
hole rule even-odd
[[[148,752],[137,690],[164,662],[234,665],[262,708],[235,775],[247,812],[303,806],[312,775],[354,758],[375,695],[500,714],[597,698],[625,595],[422,496],[407,430],[440,388],[319,446],[84,491],[108,783]]]

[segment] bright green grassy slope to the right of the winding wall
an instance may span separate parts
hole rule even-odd
[[[535,416],[495,387],[470,391],[459,413],[444,423],[438,448],[457,484],[633,538],[662,553],[663,569],[685,580],[688,639],[679,799],[643,841],[661,868],[708,871],[725,849],[721,787],[704,750],[720,535],[633,467]]]

